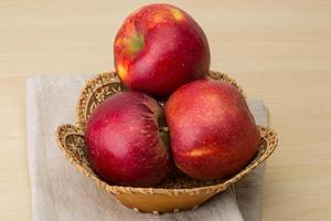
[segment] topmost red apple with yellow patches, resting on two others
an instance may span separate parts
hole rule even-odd
[[[157,97],[203,78],[211,60],[203,30],[170,4],[150,4],[131,13],[116,35],[114,57],[128,88]]]

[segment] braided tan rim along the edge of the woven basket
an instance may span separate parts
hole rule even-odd
[[[220,72],[214,72],[210,71],[209,75],[221,75],[225,82],[234,85],[237,87],[243,94],[243,88],[236,83],[236,81],[232,77],[229,77],[227,74],[220,73]],[[85,130],[85,124],[86,124],[86,103],[88,99],[88,91],[94,87],[96,87],[97,82],[100,80],[103,81],[103,77],[109,77],[110,75],[114,75],[115,77],[117,76],[116,72],[104,72],[102,74],[98,74],[97,76],[90,78],[86,85],[83,87],[77,106],[76,106],[76,124],[74,125],[68,125],[68,124],[63,124],[60,125],[56,129],[56,140],[58,144],[58,147],[65,155],[65,157],[76,166],[76,168],[83,172],[85,176],[90,177],[98,186],[102,188],[106,189],[108,192],[119,194],[119,193],[147,193],[147,194],[169,194],[169,196],[177,196],[177,194],[200,194],[200,193],[211,193],[211,192],[220,192],[224,189],[226,189],[229,185],[236,182],[238,179],[241,179],[243,176],[246,173],[249,173],[253,169],[255,169],[258,165],[260,165],[265,159],[267,159],[273,151],[275,150],[278,139],[277,135],[273,129],[265,128],[259,126],[260,130],[260,136],[264,138],[266,141],[266,152],[261,154],[260,159],[257,159],[252,164],[252,161],[243,168],[239,172],[234,175],[233,177],[226,179],[224,182],[217,183],[217,185],[210,185],[210,186],[204,186],[204,187],[195,187],[195,188],[180,188],[180,189],[166,189],[166,188],[139,188],[139,187],[124,187],[124,186],[111,186],[105,182],[104,180],[99,179],[90,168],[86,168],[82,164],[75,160],[73,156],[68,152],[66,149],[65,145],[63,144],[63,129],[64,128],[71,128],[74,134],[78,134],[81,136],[84,136],[84,130]],[[115,81],[119,81],[119,78],[115,78]],[[118,82],[116,82],[118,83]],[[245,96],[245,94],[244,94]],[[246,97],[246,96],[245,96]],[[271,139],[271,138],[273,139]]]

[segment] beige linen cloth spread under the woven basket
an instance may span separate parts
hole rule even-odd
[[[143,214],[119,204],[68,162],[56,146],[60,124],[75,123],[82,86],[93,75],[34,76],[26,83],[28,155],[34,221],[256,221],[260,215],[264,166],[234,188],[196,210]],[[268,112],[249,101],[257,122],[268,126]]]

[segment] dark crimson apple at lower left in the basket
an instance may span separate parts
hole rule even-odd
[[[111,185],[150,187],[170,169],[163,110],[151,97],[122,92],[90,115],[85,133],[92,168]]]

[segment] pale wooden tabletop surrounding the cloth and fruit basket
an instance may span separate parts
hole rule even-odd
[[[115,33],[146,3],[0,1],[0,220],[31,220],[26,77],[113,70]],[[203,27],[212,69],[270,108],[280,144],[267,165],[263,220],[331,220],[331,1],[173,3]]]

